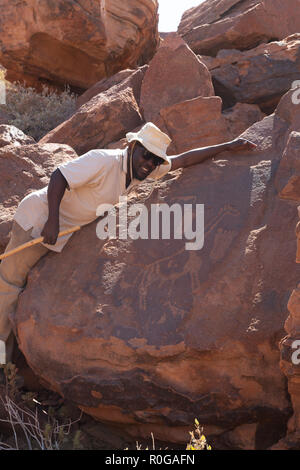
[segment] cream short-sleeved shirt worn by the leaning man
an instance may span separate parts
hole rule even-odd
[[[119,197],[128,194],[140,181],[133,179],[126,188],[128,151],[95,149],[58,167],[65,177],[66,189],[59,210],[60,231],[86,225],[97,219],[100,204],[115,205]],[[159,179],[171,169],[168,159],[150,173],[148,178]],[[41,235],[48,219],[48,186],[28,194],[19,204],[14,220],[24,230],[32,229],[32,237]],[[71,234],[59,237],[55,245],[44,246],[61,252]]]

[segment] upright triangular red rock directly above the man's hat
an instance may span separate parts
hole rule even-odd
[[[198,96],[213,96],[207,67],[182,39],[169,34],[149,64],[140,107],[145,121],[155,121],[162,108]]]

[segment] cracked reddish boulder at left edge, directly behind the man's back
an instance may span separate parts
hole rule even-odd
[[[16,137],[20,138],[20,135]],[[60,144],[38,145],[29,142],[16,145],[12,142],[0,148],[1,252],[8,243],[12,219],[19,202],[30,192],[47,186],[57,166],[77,156],[72,148]]]

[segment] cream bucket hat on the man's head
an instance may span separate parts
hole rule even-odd
[[[169,163],[167,148],[172,140],[152,122],[147,122],[138,132],[128,132],[127,142],[139,141],[149,152]]]

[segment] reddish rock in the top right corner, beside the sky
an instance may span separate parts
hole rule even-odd
[[[206,0],[186,11],[178,33],[196,54],[252,49],[300,31],[298,0]]]

